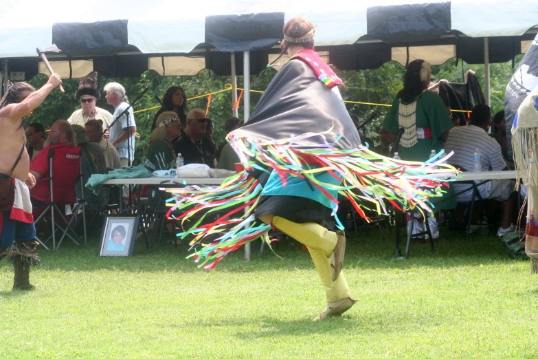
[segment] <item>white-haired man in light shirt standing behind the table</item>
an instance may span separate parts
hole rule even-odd
[[[122,168],[131,166],[135,159],[135,133],[136,123],[133,115],[133,107],[129,108],[127,113],[121,117],[123,111],[129,106],[125,89],[119,83],[107,83],[104,86],[107,91],[107,102],[114,107],[113,124],[109,128],[110,143],[115,146],[117,153],[120,155]]]

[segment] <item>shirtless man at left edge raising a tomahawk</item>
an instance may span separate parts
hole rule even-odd
[[[21,181],[16,183],[21,190],[20,206],[7,204],[4,207],[7,209],[2,210],[0,218],[0,259],[5,257],[8,248],[14,244],[8,254],[8,261],[12,261],[15,267],[13,290],[34,289],[29,282],[29,264],[39,261],[32,207],[28,208],[30,199],[28,188],[36,184],[36,179],[29,172],[30,158],[25,148],[26,135],[23,122],[60,83],[62,80],[58,74],[52,74],[48,82],[37,91],[27,83],[15,83],[0,103],[0,178],[3,178],[0,193],[5,192],[10,184],[5,180],[6,177]]]

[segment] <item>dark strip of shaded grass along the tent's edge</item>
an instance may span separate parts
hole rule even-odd
[[[512,261],[502,247],[502,242],[492,235],[471,237],[466,241],[464,233],[447,231],[447,236],[436,243],[434,253],[430,252],[429,243],[412,244],[409,259],[394,257],[395,241],[392,236],[383,239],[379,232],[369,237],[348,236],[345,268],[354,269],[408,269],[408,268],[454,268],[458,266],[493,265]],[[405,236],[402,236],[402,240]],[[177,272],[199,271],[193,259],[186,259],[189,252],[188,241],[175,247],[165,242],[155,243],[152,250],[146,250],[142,237],[135,242],[133,257],[99,257],[100,239],[89,237],[88,245],[78,247],[72,242],[63,243],[56,251],[39,249],[43,259],[41,270],[124,270],[132,272],[159,272],[171,270]],[[244,250],[228,254],[217,266],[217,271],[225,272],[262,272],[268,270],[313,269],[308,251],[302,250],[302,244],[288,240],[273,245],[273,250],[265,246],[263,259],[260,259],[260,241],[252,243],[254,250],[251,263],[244,261]],[[292,245],[294,243],[294,245]],[[405,242],[400,249],[405,250]],[[280,257],[278,257],[280,256]],[[67,260],[66,260],[67,259]]]

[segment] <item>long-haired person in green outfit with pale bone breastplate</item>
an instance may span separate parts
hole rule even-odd
[[[432,150],[439,153],[453,127],[445,102],[438,94],[428,91],[430,79],[431,65],[427,61],[415,60],[407,65],[403,89],[394,98],[392,108],[383,122],[383,128],[394,134],[401,127],[405,129],[399,143],[399,155],[405,161],[426,162]],[[440,209],[456,207],[456,197],[444,200],[453,195],[453,188],[449,186],[444,189],[446,193],[442,197],[431,199],[435,217],[438,217]],[[407,218],[410,220],[410,215]],[[428,222],[431,236],[438,239],[437,219],[429,217]],[[411,223],[407,223],[408,230]],[[422,231],[423,224],[417,219],[413,233]]]

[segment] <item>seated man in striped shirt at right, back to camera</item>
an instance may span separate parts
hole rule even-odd
[[[489,137],[487,131],[491,125],[491,110],[487,105],[476,105],[471,113],[471,122],[467,126],[451,129],[445,151],[454,154],[448,162],[455,166],[461,166],[465,171],[473,171],[473,153],[475,149],[480,151],[480,164],[482,171],[506,171],[508,166],[504,162],[501,153],[501,146],[493,138]],[[469,188],[469,184],[458,184],[454,187],[456,193]],[[502,226],[497,230],[497,236],[502,236],[506,232],[514,230],[512,224],[512,213],[515,210],[515,183],[511,179],[493,179],[478,187],[478,192],[482,199],[495,199],[502,202]],[[472,199],[472,191],[467,191],[458,195],[458,202],[469,202]]]

